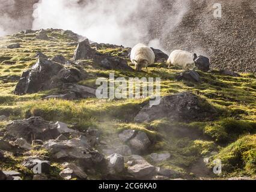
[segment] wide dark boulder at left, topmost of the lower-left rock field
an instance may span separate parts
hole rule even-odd
[[[13,121],[7,125],[6,132],[14,139],[23,138],[29,143],[32,140],[56,139],[61,134],[57,125],[41,117]]]

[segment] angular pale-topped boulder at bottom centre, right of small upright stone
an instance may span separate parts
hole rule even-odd
[[[156,174],[156,167],[148,163],[144,158],[139,155],[131,155],[127,172],[134,176],[136,179],[150,179]]]

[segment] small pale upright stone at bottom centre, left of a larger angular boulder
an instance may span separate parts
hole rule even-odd
[[[108,157],[109,169],[114,170],[116,173],[121,173],[124,170],[124,157],[120,154],[112,154]]]

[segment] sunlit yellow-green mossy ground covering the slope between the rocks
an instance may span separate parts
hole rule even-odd
[[[175,76],[181,70],[175,67],[168,69],[165,64],[152,65],[148,68],[148,73],[136,73],[109,71],[98,67],[93,61],[83,61],[83,67],[89,77],[79,82],[81,85],[96,88],[97,77],[108,78],[110,72],[115,72],[115,77],[161,77],[162,95],[191,91],[205,98],[218,109],[216,119],[209,122],[184,124],[159,119],[150,124],[135,124],[133,118],[144,106],[147,98],[112,101],[42,100],[46,95],[58,93],[58,89],[22,96],[13,94],[22,72],[37,62],[37,58],[34,58],[36,52],[42,52],[49,57],[61,54],[67,59],[73,58],[76,46],[70,44],[74,43],[72,38],[61,35],[60,30],[48,30],[48,32],[49,41],[37,40],[35,34],[17,34],[0,38],[0,47],[11,43],[21,44],[19,49],[0,49],[0,115],[9,116],[10,120],[33,115],[42,116],[48,121],[76,124],[75,127],[81,131],[87,130],[88,127],[95,127],[103,131],[103,137],[113,137],[113,139],[123,129],[142,130],[153,141],[154,145],[151,146],[150,152],[171,153],[171,159],[162,163],[162,166],[187,173],[188,168],[199,158],[216,151],[220,152],[217,157],[224,161],[225,176],[234,173],[255,175],[256,136],[250,135],[256,133],[256,77],[254,74],[229,77],[219,75],[218,71],[213,73],[198,71],[203,83],[197,84],[177,82]],[[125,50],[103,48],[100,52],[120,56]],[[128,58],[126,59],[129,61]],[[1,130],[4,130],[7,123],[7,121],[1,122]],[[186,134],[179,134],[180,130],[185,130]],[[10,158],[10,167],[18,164],[19,158],[14,158],[15,160]],[[145,158],[149,160],[147,155]],[[8,164],[2,163],[1,166],[8,168]],[[237,166],[237,164],[240,165]],[[57,168],[55,170],[58,172]]]

